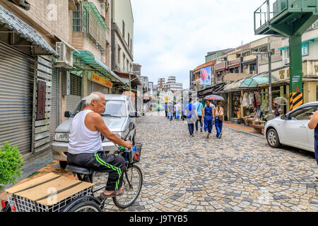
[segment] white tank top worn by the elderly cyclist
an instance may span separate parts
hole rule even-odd
[[[92,110],[79,112],[71,122],[69,133],[69,153],[72,155],[82,153],[96,153],[102,150],[100,131],[90,131],[85,123],[85,117]]]

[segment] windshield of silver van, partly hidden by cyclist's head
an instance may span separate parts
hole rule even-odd
[[[82,100],[73,111],[72,117],[74,117],[78,112],[81,112],[85,107],[85,100]],[[109,117],[126,117],[125,102],[123,100],[106,100],[106,109],[101,115]]]

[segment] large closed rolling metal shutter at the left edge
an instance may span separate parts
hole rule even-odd
[[[21,154],[31,152],[32,57],[0,43],[0,145],[8,141]]]

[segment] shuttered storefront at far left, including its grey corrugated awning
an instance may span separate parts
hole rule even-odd
[[[0,145],[24,159],[49,146],[52,58],[57,53],[28,23],[0,5]],[[41,127],[40,127],[41,126]]]

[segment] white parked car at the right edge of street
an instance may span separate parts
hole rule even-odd
[[[284,144],[314,152],[314,130],[308,128],[308,123],[310,115],[317,108],[318,102],[310,102],[268,121],[264,127],[264,136],[269,145],[279,148]]]

